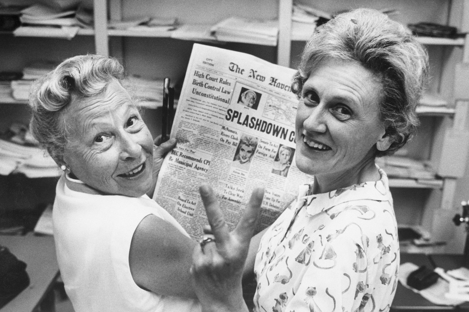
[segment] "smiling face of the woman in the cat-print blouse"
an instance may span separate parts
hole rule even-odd
[[[340,175],[374,157],[385,135],[382,87],[355,62],[328,60],[305,81],[296,115],[296,164],[308,174]]]

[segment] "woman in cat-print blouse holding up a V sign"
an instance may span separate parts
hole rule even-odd
[[[256,274],[255,311],[389,311],[399,242],[375,158],[412,137],[427,64],[416,39],[375,10],[315,30],[292,86],[296,166],[314,181],[252,240],[228,232],[211,189],[201,188],[216,240],[196,246],[191,268],[204,311],[247,311],[243,270]]]

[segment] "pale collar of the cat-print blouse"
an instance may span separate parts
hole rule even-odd
[[[310,194],[312,184],[303,184],[300,186],[298,202],[303,207],[306,204],[306,211],[310,215],[315,215],[321,211],[329,210],[341,203],[347,203],[356,200],[375,200],[389,201],[391,198],[389,192],[389,183],[386,173],[378,168],[381,179],[378,181],[363,182],[354,184],[343,189],[336,189],[331,192],[321,194]]]

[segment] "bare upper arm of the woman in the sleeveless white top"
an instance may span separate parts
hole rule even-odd
[[[146,216],[130,244],[130,272],[135,283],[161,295],[195,298],[189,267],[196,244],[167,221]]]

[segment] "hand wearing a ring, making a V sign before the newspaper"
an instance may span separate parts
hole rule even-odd
[[[190,268],[194,290],[204,312],[248,311],[242,297],[242,274],[264,189],[254,189],[232,232],[212,188],[204,184],[199,191],[212,235],[205,235],[194,249]]]

